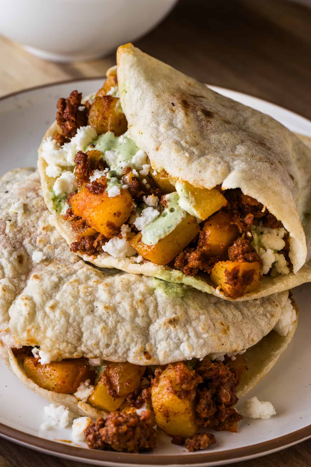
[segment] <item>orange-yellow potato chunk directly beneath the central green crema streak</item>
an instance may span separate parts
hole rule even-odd
[[[167,264],[177,256],[181,250],[199,233],[200,226],[196,219],[187,214],[175,229],[162,238],[155,245],[146,245],[142,241],[142,234],[138,233],[131,239],[131,246],[143,258],[156,264]]]

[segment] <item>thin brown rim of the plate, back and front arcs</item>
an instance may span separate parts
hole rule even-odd
[[[28,92],[37,91],[40,89],[45,89],[52,86],[66,85],[73,82],[79,81],[92,81],[97,79],[104,79],[104,76],[96,77],[83,77],[83,78],[72,78],[65,79],[53,83],[47,83],[43,85],[33,86],[27,89],[20,91],[11,92],[0,97],[0,102],[5,99],[10,99],[12,97],[18,96],[20,94],[26,94]],[[299,115],[287,109],[286,107],[279,106],[274,102],[271,102],[260,97],[246,94],[240,91],[235,91],[234,89],[224,88],[221,86],[210,85],[214,89],[225,90],[229,92],[235,92],[244,96],[255,98],[264,103],[268,103],[272,106],[276,106],[282,111],[290,112],[292,115],[299,118],[303,118],[307,122],[311,123],[311,120],[308,118]],[[300,428],[294,432],[287,433],[278,438],[273,438],[261,443],[256,443],[250,446],[242,446],[234,449],[227,449],[223,451],[211,451],[205,453],[194,453],[191,455],[185,454],[152,454],[152,453],[116,453],[114,451],[97,451],[95,449],[86,449],[78,446],[72,446],[71,444],[60,443],[50,439],[41,438],[23,432],[16,428],[7,426],[3,423],[0,423],[0,437],[12,441],[14,443],[20,444],[22,446],[27,446],[29,448],[35,449],[36,451],[41,451],[50,455],[63,457],[67,459],[72,459],[76,461],[84,462],[96,462],[97,465],[150,465],[150,466],[162,466],[162,465],[201,465],[201,466],[213,466],[221,465],[223,463],[232,463],[241,460],[248,460],[255,457],[260,457],[266,454],[274,453],[280,451],[287,447],[293,446],[299,442],[304,441],[305,439],[311,438],[311,424],[306,425],[303,428]],[[242,456],[239,456],[239,453],[242,453]],[[236,457],[238,456],[238,457]]]

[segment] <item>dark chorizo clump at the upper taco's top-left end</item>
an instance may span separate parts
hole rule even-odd
[[[88,122],[88,111],[85,106],[81,108],[82,92],[72,91],[67,99],[57,101],[56,121],[62,129],[62,134],[72,138],[76,130],[84,127]],[[80,110],[79,110],[80,109]]]

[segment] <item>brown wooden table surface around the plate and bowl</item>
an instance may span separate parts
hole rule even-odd
[[[311,119],[311,9],[282,0],[184,0],[149,35],[145,52],[209,84],[269,100]],[[115,56],[55,64],[0,37],[0,95],[103,76]],[[295,408],[293,407],[293,410]],[[311,440],[235,467],[311,465]],[[0,439],[0,467],[72,466]]]

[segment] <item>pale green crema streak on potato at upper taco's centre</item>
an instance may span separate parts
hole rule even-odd
[[[159,240],[166,237],[180,224],[188,214],[179,205],[179,195],[176,191],[166,195],[167,207],[159,217],[154,219],[142,231],[142,241],[146,245],[155,245]]]

